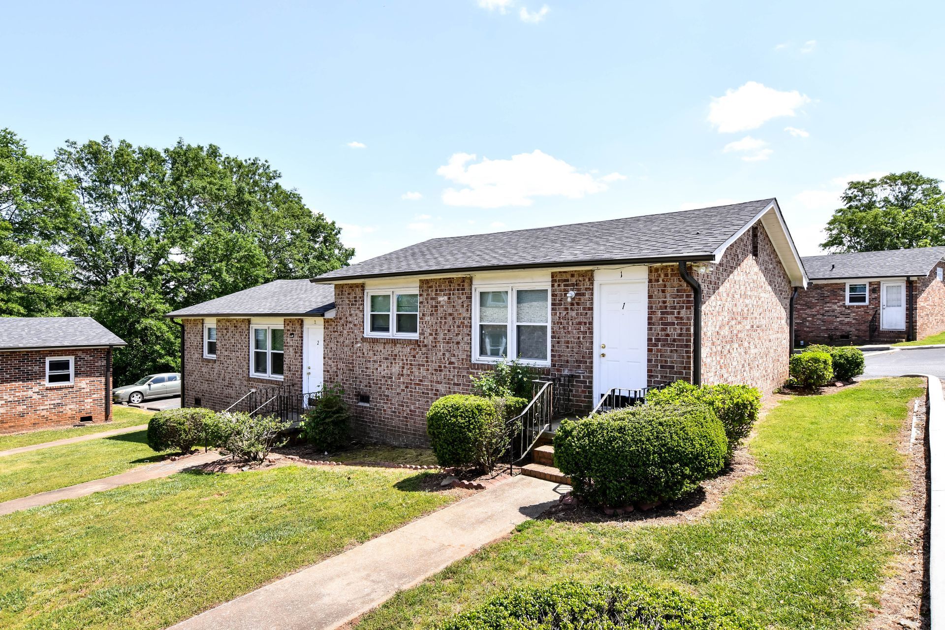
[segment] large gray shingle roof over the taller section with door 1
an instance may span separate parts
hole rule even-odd
[[[559,264],[709,260],[774,199],[552,228],[435,238],[319,276],[338,281]]]

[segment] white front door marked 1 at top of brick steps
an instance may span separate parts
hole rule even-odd
[[[597,284],[594,389],[599,400],[612,387],[646,386],[646,281]]]

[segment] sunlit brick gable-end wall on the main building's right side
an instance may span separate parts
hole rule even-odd
[[[702,285],[702,383],[746,383],[770,394],[788,377],[791,281],[758,224],[732,243]]]

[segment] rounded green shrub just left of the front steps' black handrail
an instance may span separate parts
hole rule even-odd
[[[507,448],[506,418],[481,396],[453,394],[435,400],[426,413],[426,433],[440,466],[495,468]]]

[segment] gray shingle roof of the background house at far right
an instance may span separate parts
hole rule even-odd
[[[833,280],[927,276],[943,258],[945,247],[915,247],[806,256],[801,261],[811,280]]]

